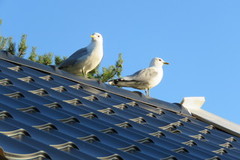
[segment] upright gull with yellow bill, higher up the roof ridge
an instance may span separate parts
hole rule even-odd
[[[74,52],[58,68],[76,75],[87,74],[95,69],[103,58],[103,37],[100,33],[91,35],[91,43]]]

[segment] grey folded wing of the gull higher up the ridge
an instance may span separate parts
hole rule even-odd
[[[62,69],[71,65],[74,65],[78,60],[81,60],[81,58],[84,58],[88,54],[87,48],[82,48],[74,52],[70,57],[68,57],[65,61],[63,61],[58,68]]]

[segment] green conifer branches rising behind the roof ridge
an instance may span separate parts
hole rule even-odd
[[[0,19],[0,25],[2,24],[2,20]],[[5,50],[13,55],[16,55],[18,57],[24,58],[27,52],[27,35],[24,34],[21,37],[20,43],[18,44],[17,52],[16,52],[16,43],[13,42],[12,37],[3,37],[0,35],[0,50]],[[30,56],[27,57],[28,60],[31,60],[33,62],[45,64],[45,65],[59,65],[62,63],[67,57],[60,57],[60,56],[54,56],[53,53],[46,53],[43,55],[38,55],[36,53],[37,47],[32,47],[32,50],[30,52]],[[88,78],[91,79],[98,79],[99,81],[106,82],[112,78],[119,78],[121,77],[122,72],[122,54],[120,53],[118,55],[118,60],[116,61],[115,65],[111,65],[109,67],[103,67],[102,72],[99,71],[99,66],[91,71],[88,74]]]

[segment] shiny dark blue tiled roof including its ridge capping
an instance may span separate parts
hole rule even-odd
[[[9,159],[240,159],[239,137],[181,105],[3,51],[0,148]]]

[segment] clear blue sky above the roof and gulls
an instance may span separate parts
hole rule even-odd
[[[69,56],[104,37],[102,67],[123,53],[122,75],[169,62],[151,96],[168,102],[205,96],[203,109],[240,124],[240,1],[0,0],[0,34],[39,54]]]

